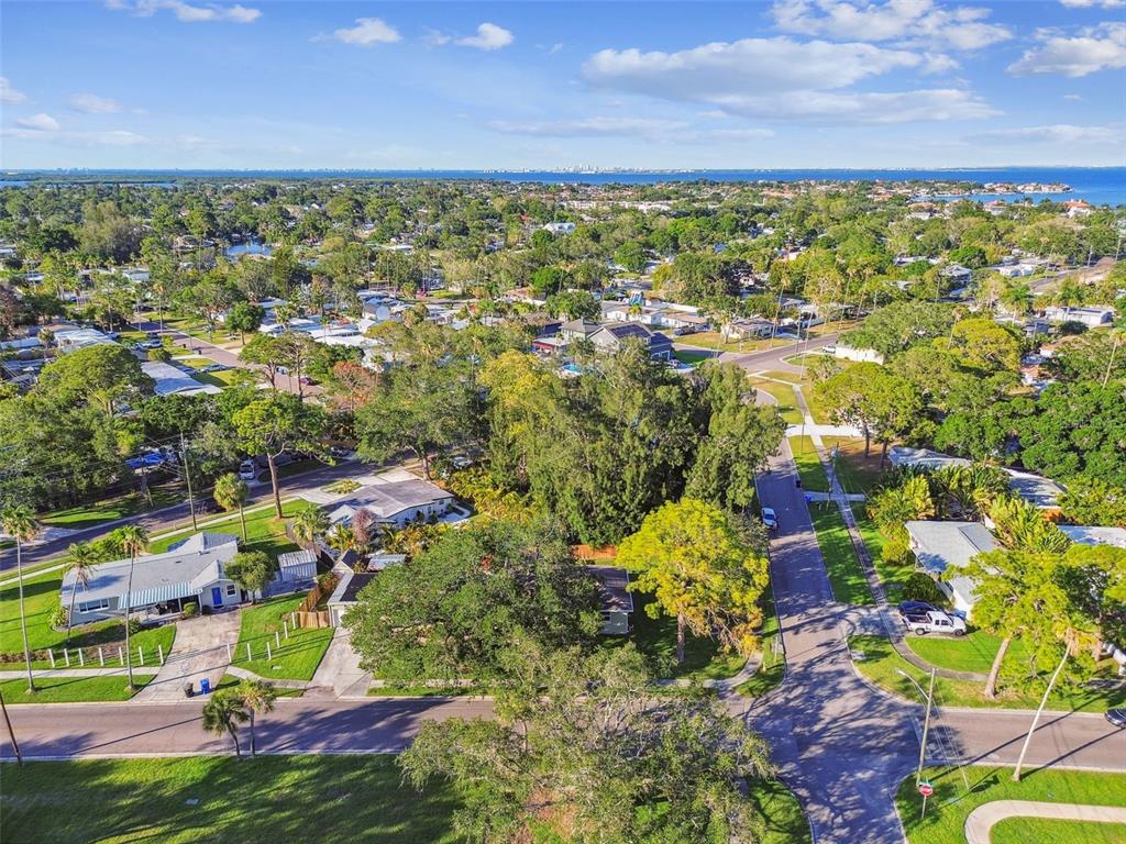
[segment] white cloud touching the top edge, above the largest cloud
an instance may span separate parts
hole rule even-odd
[[[932,0],[778,0],[771,8],[779,29],[802,35],[863,42],[930,44],[953,50],[978,50],[1007,41],[1012,33],[984,23],[989,9]]]

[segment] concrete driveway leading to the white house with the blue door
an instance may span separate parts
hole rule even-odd
[[[184,619],[176,625],[176,641],[160,673],[138,691],[131,702],[171,703],[184,700],[184,685],[189,681],[199,691],[206,677],[212,689],[223,679],[231,664],[226,646],[239,640],[241,612],[238,608],[214,616]]]

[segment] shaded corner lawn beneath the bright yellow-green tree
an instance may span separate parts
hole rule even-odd
[[[637,649],[654,663],[660,677],[718,680],[738,674],[747,662],[739,654],[724,654],[712,639],[685,637],[685,662],[677,665],[677,620],[668,616],[650,618],[645,607],[653,599],[644,592],[634,592],[634,631],[631,636],[605,636],[604,647],[620,647],[633,641]]]

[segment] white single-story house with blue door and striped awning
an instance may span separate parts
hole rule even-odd
[[[126,609],[149,616],[180,612],[187,603],[218,609],[248,598],[224,571],[238,553],[235,536],[196,533],[163,554],[137,557],[135,565],[128,559],[101,563],[92,568],[84,586],[77,583],[73,569],[68,571],[60,596],[69,609],[77,585],[72,625],[120,618]]]

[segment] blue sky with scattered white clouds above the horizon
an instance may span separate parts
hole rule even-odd
[[[1126,0],[0,12],[5,168],[1126,163]]]

